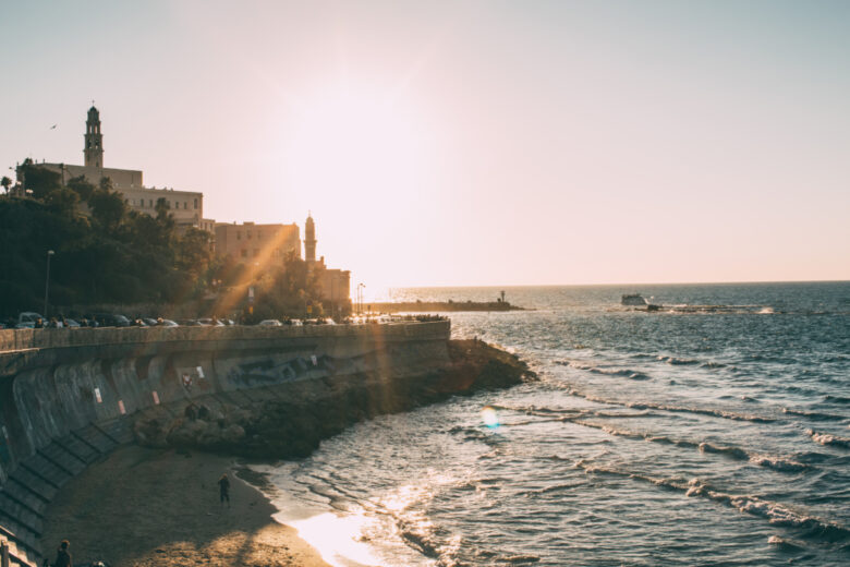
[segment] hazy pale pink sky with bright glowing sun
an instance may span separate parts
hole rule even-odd
[[[850,279],[847,1],[4,0],[0,63],[4,170],[95,99],[352,288]]]

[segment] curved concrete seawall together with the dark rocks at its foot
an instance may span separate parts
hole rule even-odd
[[[449,335],[448,321],[0,331],[0,538],[37,564],[52,497],[134,439],[302,456],[360,419],[525,373]]]

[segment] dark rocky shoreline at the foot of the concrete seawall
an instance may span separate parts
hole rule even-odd
[[[423,372],[399,374],[386,354],[380,372],[282,384],[272,387],[276,396],[258,401],[207,405],[201,399],[178,415],[162,409],[139,418],[134,433],[147,447],[303,458],[360,421],[536,377],[515,355],[478,340],[452,340],[448,349],[448,364]]]

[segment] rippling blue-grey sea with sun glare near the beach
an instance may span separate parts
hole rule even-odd
[[[536,382],[259,467],[335,566],[850,565],[850,282],[409,288]],[[641,293],[660,309],[635,311]]]

